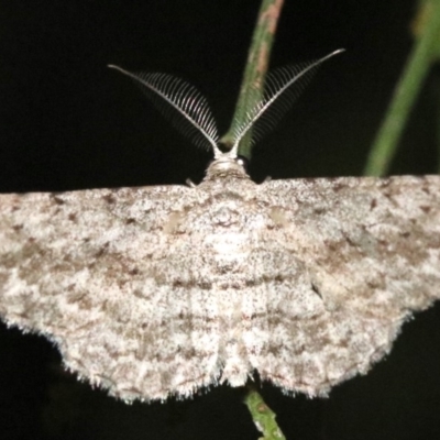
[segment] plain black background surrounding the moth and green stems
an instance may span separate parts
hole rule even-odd
[[[0,191],[183,184],[210,152],[175,132],[128,78],[166,72],[206,95],[224,132],[253,30],[256,0],[1,1]],[[290,0],[277,67],[339,47],[277,130],[251,174],[360,175],[411,46],[409,0]],[[437,73],[438,75],[438,73]],[[435,95],[426,81],[392,174],[436,173]],[[288,439],[440,438],[440,309],[404,326],[392,354],[329,399],[265,384]],[[242,391],[127,406],[63,372],[43,338],[0,333],[1,439],[256,439]]]

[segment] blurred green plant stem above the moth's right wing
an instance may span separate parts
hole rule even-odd
[[[370,151],[365,175],[381,176],[387,172],[409,111],[436,58],[436,52],[438,53],[440,0],[427,0],[422,8],[428,8],[429,11],[425,26],[409,55],[385,120]]]

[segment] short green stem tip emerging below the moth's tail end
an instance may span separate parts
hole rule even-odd
[[[264,403],[256,389],[249,387],[244,404],[252,415],[256,429],[264,436],[258,440],[286,440],[276,424],[275,413]]]

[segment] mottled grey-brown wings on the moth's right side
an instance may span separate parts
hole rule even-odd
[[[286,264],[261,318],[271,342],[252,363],[286,391],[326,394],[440,298],[440,177],[274,180],[262,191]],[[300,283],[283,273],[288,254]]]

